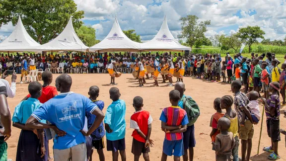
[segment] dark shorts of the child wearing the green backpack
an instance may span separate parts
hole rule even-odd
[[[188,126],[183,136],[184,149],[194,148],[196,146],[195,125]]]

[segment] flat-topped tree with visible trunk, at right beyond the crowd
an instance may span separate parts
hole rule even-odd
[[[258,42],[258,38],[264,39],[265,32],[260,29],[259,26],[247,26],[245,28],[240,28],[238,32],[238,37],[248,45],[248,52],[251,52],[251,45]]]

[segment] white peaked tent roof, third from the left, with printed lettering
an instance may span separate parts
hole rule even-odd
[[[130,40],[121,30],[117,18],[109,34],[98,44],[89,48],[89,51],[139,51],[140,43]]]

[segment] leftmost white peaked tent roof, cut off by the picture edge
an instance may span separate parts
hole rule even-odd
[[[4,41],[0,43],[0,51],[29,51],[30,48],[39,46],[26,31],[21,17],[19,16],[17,25],[15,26],[13,32]]]

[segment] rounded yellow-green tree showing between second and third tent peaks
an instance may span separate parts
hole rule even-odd
[[[86,46],[90,47],[98,43],[98,41],[96,40],[96,36],[95,36],[95,29],[90,25],[88,26],[82,25],[75,32],[78,38]]]

